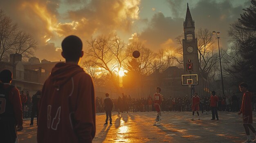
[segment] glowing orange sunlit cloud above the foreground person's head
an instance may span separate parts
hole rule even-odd
[[[35,55],[40,59],[61,59],[62,39],[78,35],[82,40],[94,34],[113,31],[130,31],[134,20],[139,19],[140,0],[1,0],[0,8],[17,22],[20,29],[31,33],[38,42]],[[81,7],[72,11],[64,7]],[[65,8],[64,8],[65,9]],[[58,48],[57,48],[58,47]]]

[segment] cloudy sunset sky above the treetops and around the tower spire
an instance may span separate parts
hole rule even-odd
[[[71,34],[85,41],[117,33],[155,52],[177,47],[187,2],[195,28],[220,31],[222,48],[227,47],[229,24],[250,5],[250,0],[0,0],[0,9],[37,40],[35,56],[53,62],[63,60],[61,41]]]

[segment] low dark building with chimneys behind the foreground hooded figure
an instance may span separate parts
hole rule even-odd
[[[30,92],[30,95],[42,90],[43,84],[49,77],[52,68],[58,62],[50,62],[37,57],[31,57],[29,62],[21,62],[22,55],[16,53],[10,55],[9,62],[0,62],[0,70],[9,69],[13,73],[12,85],[19,90]]]

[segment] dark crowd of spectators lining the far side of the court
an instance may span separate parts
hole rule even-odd
[[[218,110],[228,112],[238,112],[242,103],[242,98],[236,94],[233,95],[217,95],[218,96]],[[210,95],[199,95],[200,97],[200,111],[202,113],[210,111],[209,101]],[[153,106],[153,98],[149,95],[147,98],[131,98],[130,95],[122,94],[117,99],[113,99],[114,112],[152,112],[155,111]],[[256,110],[256,97],[253,96],[252,108]],[[96,97],[96,112],[104,111],[104,99]],[[178,97],[164,97],[161,105],[162,111],[184,112],[191,111],[191,99],[185,96]]]

